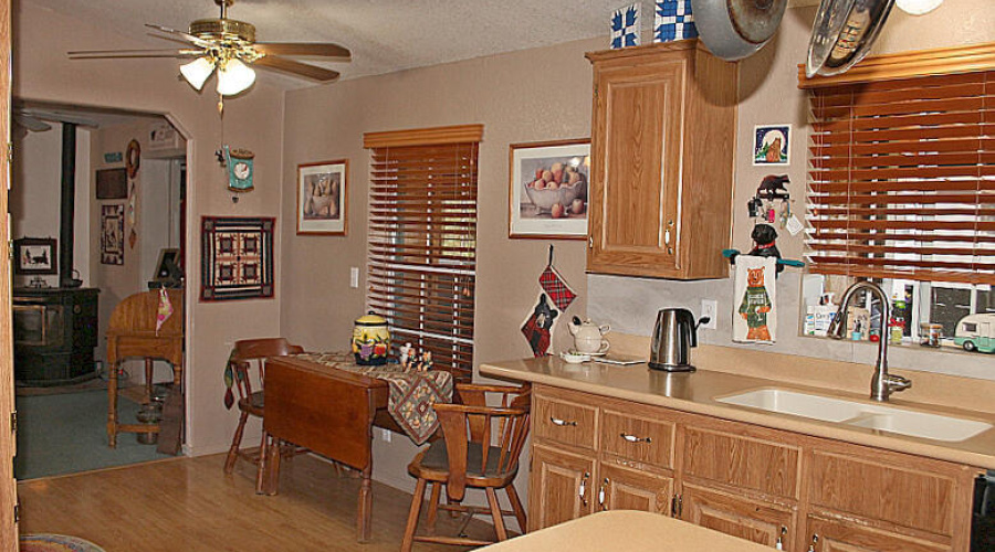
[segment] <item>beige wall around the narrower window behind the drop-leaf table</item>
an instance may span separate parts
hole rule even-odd
[[[584,52],[604,41],[440,65],[287,93],[284,197],[294,197],[296,166],[348,158],[346,237],[295,236],[295,205],[283,205],[283,330],[308,349],[344,349],[364,311],[365,278],[348,287],[349,267],[366,273],[368,152],[363,132],[480,123],[475,359],[531,354],[520,328],[536,299],[547,240],[507,237],[507,146],[590,136],[590,64]],[[585,241],[556,241],[556,266],[580,297],[566,317],[586,310]],[[555,347],[564,347],[557,326]],[[378,479],[410,485],[405,466],[415,448],[395,436],[377,442]],[[521,489],[523,486],[519,486]]]

